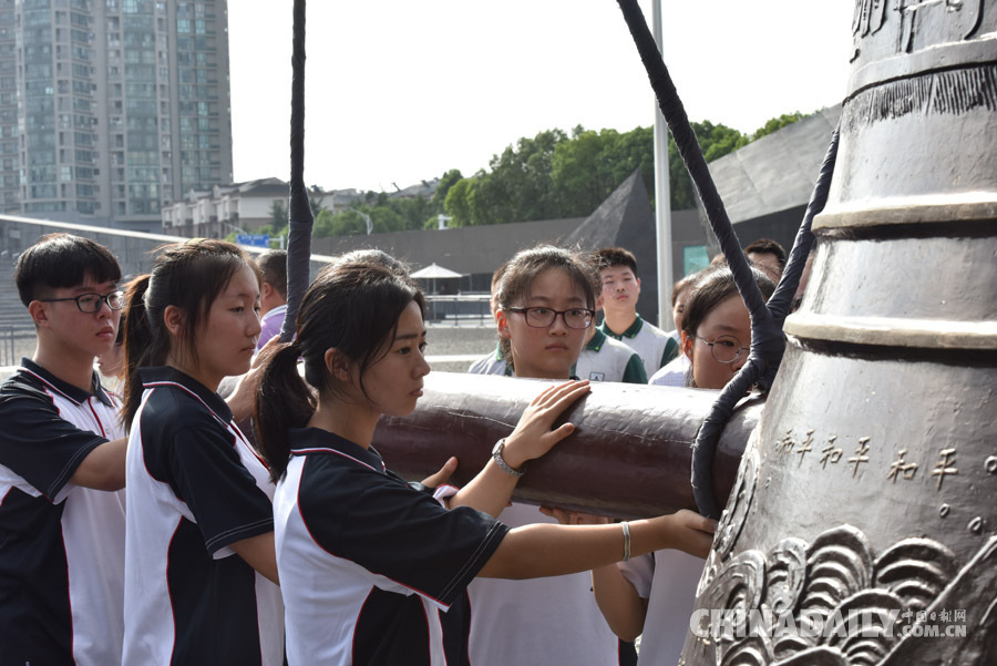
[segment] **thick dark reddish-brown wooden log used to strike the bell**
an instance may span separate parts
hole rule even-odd
[[[551,381],[433,372],[415,411],[383,417],[373,445],[388,468],[410,480],[438,471],[450,455],[452,482],[471,480],[492,447],[512,432],[530,401]],[[617,518],[696,509],[689,481],[690,444],[718,391],[594,382],[564,421],[577,430],[526,464],[514,498]],[[741,453],[764,400],[742,403],[721,438],[713,468],[718,503],[737,475]]]

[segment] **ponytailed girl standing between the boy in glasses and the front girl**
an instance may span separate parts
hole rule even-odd
[[[274,486],[215,392],[249,370],[258,308],[219,240],[166,248],[129,289],[126,664],[282,663]]]

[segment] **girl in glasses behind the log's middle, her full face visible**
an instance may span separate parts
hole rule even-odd
[[[577,253],[542,246],[513,257],[495,296],[506,375],[571,379],[594,326],[599,288],[598,274]],[[528,504],[511,504],[498,520],[513,527],[557,523]],[[587,573],[479,578],[467,593],[474,666],[620,663],[620,643],[596,606]]]

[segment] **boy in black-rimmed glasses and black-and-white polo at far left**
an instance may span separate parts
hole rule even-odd
[[[51,234],[14,279],[38,345],[0,385],[0,662],[120,664],[127,440],[93,362],[117,335],[121,268]]]

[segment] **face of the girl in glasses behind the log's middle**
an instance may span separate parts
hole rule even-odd
[[[517,307],[565,311],[588,309],[589,305],[566,270],[547,268],[533,278],[528,297]],[[498,335],[511,342],[516,377],[567,379],[582,354],[585,332],[568,327],[563,315],[554,317],[549,326],[535,327],[526,322],[524,312],[498,311]]]

